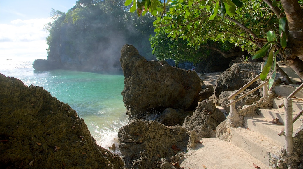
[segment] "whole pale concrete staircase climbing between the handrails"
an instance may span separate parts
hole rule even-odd
[[[293,80],[294,81],[294,80]],[[297,79],[300,81],[300,79]],[[296,81],[295,81],[296,82]],[[275,98],[272,108],[257,110],[258,115],[245,117],[244,128],[233,128],[231,142],[248,152],[251,156],[270,166],[270,156],[276,154],[284,147],[284,136],[278,136],[278,132],[284,128],[284,107],[278,105],[291,94],[299,85],[281,85],[276,87],[275,93],[282,98]],[[293,117],[303,108],[303,91],[295,95],[298,99],[293,100]],[[273,123],[278,119],[281,124]],[[303,116],[294,124],[293,131],[301,126]]]

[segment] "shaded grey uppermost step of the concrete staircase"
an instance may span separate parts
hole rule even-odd
[[[275,93],[283,98],[286,98],[299,86],[300,85],[278,85],[276,86]],[[297,94],[295,94],[295,97],[303,98],[303,89],[301,89]]]

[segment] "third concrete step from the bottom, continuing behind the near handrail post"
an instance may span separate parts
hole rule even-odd
[[[280,109],[264,109],[264,108],[258,108],[257,111],[259,112],[259,115],[261,117],[269,119],[269,121],[272,121],[273,119],[279,119],[279,121],[284,125],[284,108]],[[298,114],[298,111],[292,113],[292,117],[294,118],[295,115]],[[293,131],[300,128],[303,121],[303,115],[301,115],[298,120],[295,121],[295,123],[292,124]]]

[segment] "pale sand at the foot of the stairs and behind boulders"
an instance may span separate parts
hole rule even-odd
[[[215,85],[216,79],[221,72],[214,72],[200,76],[205,85]],[[224,109],[222,108],[224,111]],[[221,110],[221,111],[222,111]],[[185,160],[180,164],[185,169],[261,169],[270,167],[252,157],[241,148],[231,142],[219,140],[217,138],[202,138],[203,143],[198,144],[194,150],[189,150],[185,154]]]

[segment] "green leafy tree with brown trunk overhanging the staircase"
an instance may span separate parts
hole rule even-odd
[[[127,0],[125,5],[131,3],[132,0]],[[169,3],[171,7],[165,13]],[[274,58],[274,61],[273,52],[278,52],[278,56],[303,78],[301,6],[302,0],[167,0],[163,3],[134,0],[130,10],[137,10],[139,15],[145,14],[144,11],[157,15],[155,31],[165,27],[169,36],[186,39],[188,45],[196,48],[211,39],[233,42],[251,54],[257,51],[262,56],[269,54],[268,58]],[[285,22],[283,18],[286,18]],[[264,45],[266,47],[262,48]]]

